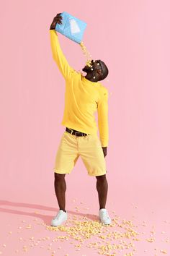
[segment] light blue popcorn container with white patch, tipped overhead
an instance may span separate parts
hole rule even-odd
[[[55,30],[74,42],[81,43],[86,29],[86,22],[73,17],[68,12],[62,12],[61,16],[63,17],[62,24],[57,23]]]

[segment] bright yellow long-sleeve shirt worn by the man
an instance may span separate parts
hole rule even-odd
[[[98,112],[99,138],[102,147],[107,147],[108,90],[100,82],[87,80],[81,72],[76,72],[66,60],[55,30],[50,30],[50,44],[53,59],[66,80],[65,108],[61,124],[90,135],[97,134],[94,113]]]

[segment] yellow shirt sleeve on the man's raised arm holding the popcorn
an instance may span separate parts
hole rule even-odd
[[[69,78],[73,72],[76,72],[66,60],[66,57],[61,50],[60,43],[58,41],[58,35],[55,30],[50,30],[50,46],[53,54],[53,59],[58,66],[58,69],[63,74],[65,79]]]

